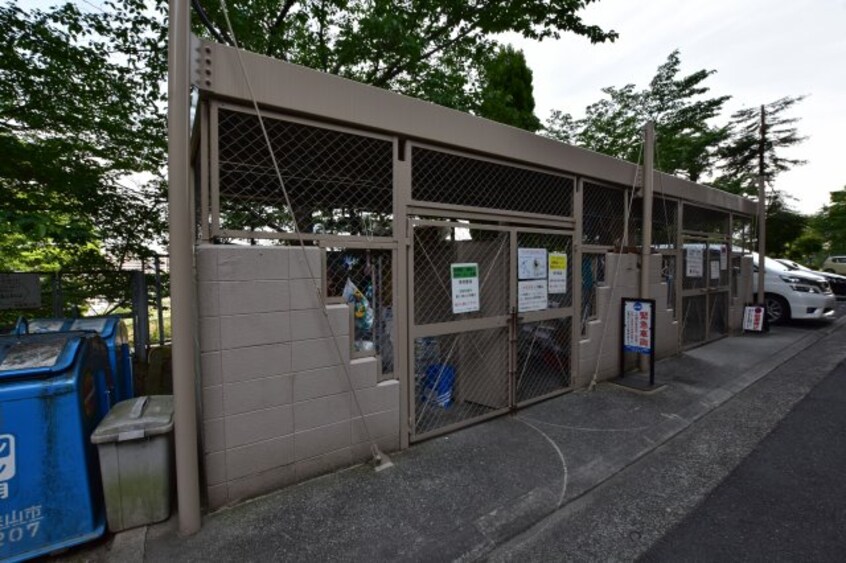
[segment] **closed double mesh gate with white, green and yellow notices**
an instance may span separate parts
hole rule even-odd
[[[570,388],[572,236],[441,221],[412,233],[414,439]],[[478,284],[467,309],[453,289],[465,266]]]

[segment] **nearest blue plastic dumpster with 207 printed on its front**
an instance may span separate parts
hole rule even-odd
[[[105,529],[97,451],[108,357],[93,333],[0,337],[0,559],[20,561]]]

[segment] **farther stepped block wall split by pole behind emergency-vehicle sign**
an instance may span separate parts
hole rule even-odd
[[[640,292],[640,256],[613,254],[606,257],[605,283],[596,288],[596,319],[588,321],[579,340],[579,368],[574,385],[588,385],[596,373],[597,380],[610,379],[620,371],[620,300],[638,297]],[[650,298],[655,299],[656,357],[664,358],[679,352],[679,325],[667,307],[667,284],[661,281],[661,255],[650,256]],[[610,309],[609,309],[610,307]]]

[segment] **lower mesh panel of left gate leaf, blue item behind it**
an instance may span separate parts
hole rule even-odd
[[[508,408],[507,365],[507,328],[415,339],[415,435]]]

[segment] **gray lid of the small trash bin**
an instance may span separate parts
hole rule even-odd
[[[106,444],[140,440],[170,432],[173,428],[173,397],[148,395],[121,401],[112,407],[91,435],[91,443]]]

